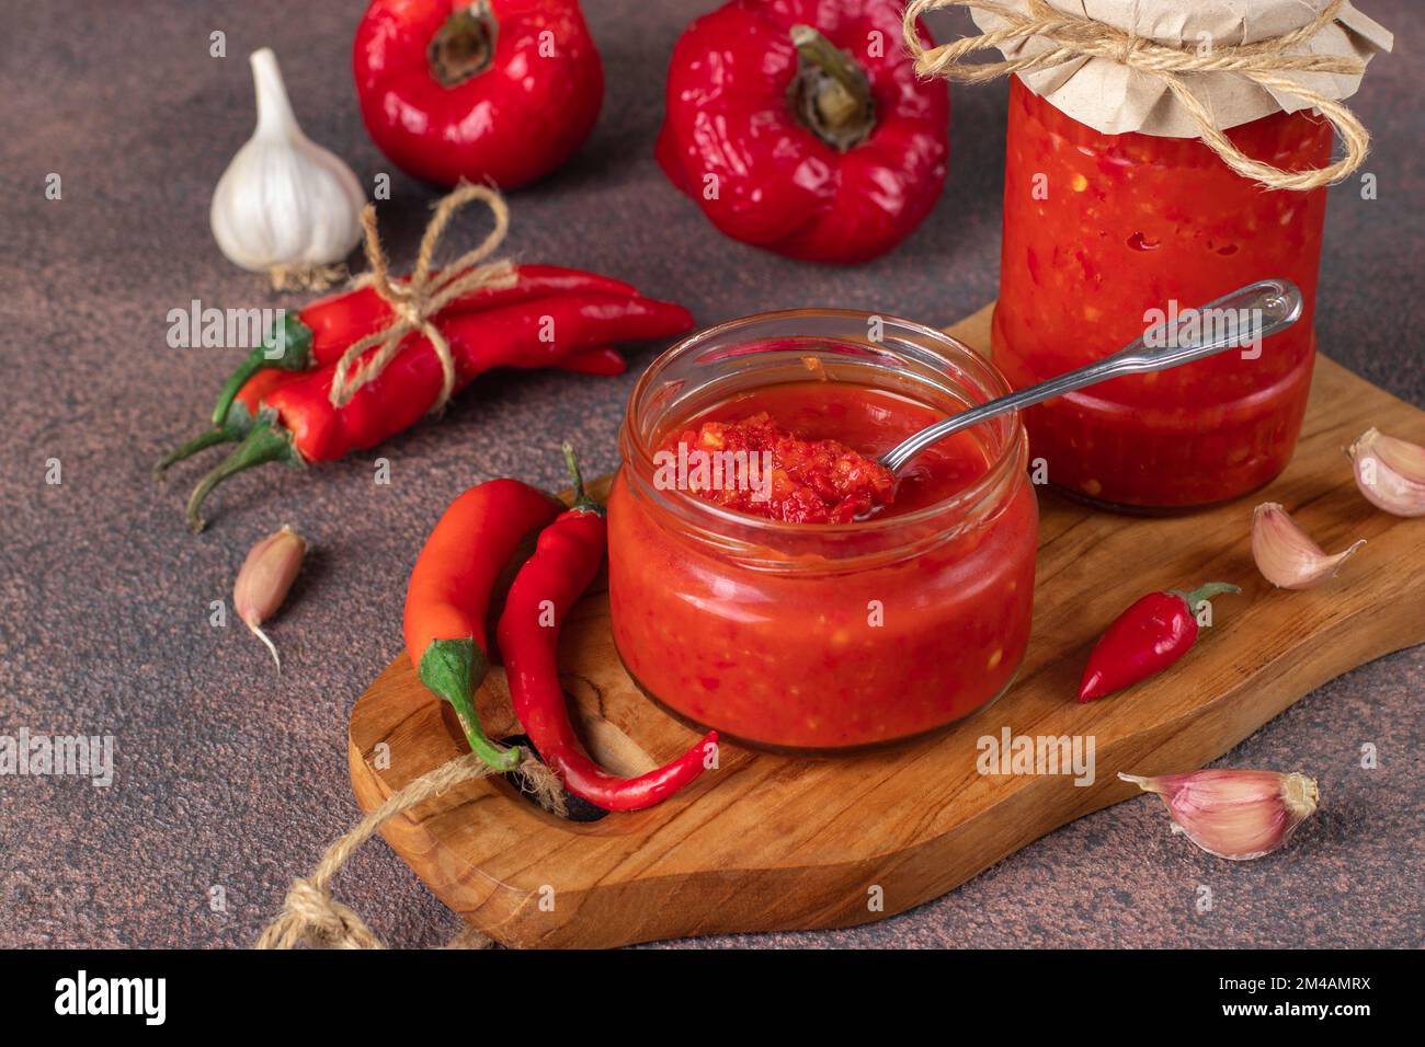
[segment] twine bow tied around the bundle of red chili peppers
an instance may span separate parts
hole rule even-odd
[[[430,262],[446,225],[456,211],[473,199],[484,202],[494,212],[494,228],[477,248],[460,255],[452,265],[433,271]],[[430,406],[432,412],[439,412],[455,392],[456,373],[450,346],[440,333],[440,329],[433,323],[433,318],[450,305],[450,302],[472,291],[479,291],[480,288],[507,288],[514,283],[514,264],[509,259],[480,265],[480,262],[484,262],[494,252],[504,239],[504,234],[509,232],[510,211],[496,189],[486,185],[462,182],[436,205],[436,214],[420,236],[420,254],[416,258],[416,268],[412,271],[410,279],[398,282],[392,282],[388,272],[386,254],[380,246],[380,236],[376,234],[376,208],[370,204],[362,208],[361,228],[370,272],[358,281],[356,286],[373,288],[390,305],[395,319],[383,330],[353,342],[342,353],[332,375],[332,406],[346,406],[358,389],[368,382],[373,382],[386,369],[386,365],[396,358],[406,335],[419,330],[429,339],[430,346],[440,360],[443,376],[440,395]],[[362,359],[373,348],[376,352]]]

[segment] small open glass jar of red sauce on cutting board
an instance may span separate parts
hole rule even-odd
[[[747,516],[660,481],[656,456],[688,419],[808,380],[906,405],[906,419],[876,407],[885,446],[852,444],[865,454],[1007,392],[943,333],[858,312],[751,316],[671,348],[633,392],[608,499],[618,654],[657,702],[748,745],[838,751],[942,728],[1009,687],[1029,640],[1023,427],[1007,415],[970,430],[983,472],[949,497],[846,524]]]

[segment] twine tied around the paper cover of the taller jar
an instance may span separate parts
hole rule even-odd
[[[985,83],[1007,73],[1062,66],[1074,58],[1107,58],[1141,70],[1161,80],[1173,97],[1197,124],[1204,142],[1223,158],[1233,171],[1273,189],[1314,189],[1341,181],[1365,160],[1371,135],[1349,108],[1334,98],[1311,91],[1282,73],[1340,73],[1359,75],[1365,63],[1325,54],[1288,54],[1292,47],[1310,40],[1337,20],[1345,0],[1332,0],[1308,24],[1277,37],[1253,44],[1213,47],[1200,54],[1194,44],[1164,44],[1127,33],[1114,26],[1056,10],[1046,0],[1027,0],[1027,10],[1000,0],[913,0],[905,10],[905,43],[921,75],[938,75],[956,83]],[[926,11],[945,7],[969,7],[1003,19],[1007,24],[978,37],[965,37],[949,44],[926,48],[916,34],[916,20]],[[1039,37],[1053,47],[1005,61],[975,66],[960,60],[1002,44]],[[1211,120],[1207,107],[1194,95],[1178,73],[1237,73],[1263,87],[1292,94],[1321,111],[1331,121],[1345,145],[1345,155],[1321,168],[1282,171],[1271,164],[1253,160],[1238,150]]]

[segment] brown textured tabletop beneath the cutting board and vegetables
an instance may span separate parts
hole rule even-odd
[[[513,197],[512,251],[600,269],[688,303],[700,322],[842,305],[948,323],[993,298],[1005,87],[956,88],[945,195],[898,252],[831,269],[732,244],[664,181],[651,157],[661,78],[680,27],[707,3],[587,3],[608,73],[597,130],[554,178]],[[1317,330],[1325,352],[1425,403],[1418,105],[1425,14],[1362,0],[1401,54],[1372,66],[1355,107],[1375,132],[1378,198],[1332,191]],[[182,472],[148,466],[201,417],[232,350],[165,348],[167,313],[295,305],[217,252],[208,201],[252,124],[245,56],[271,44],[306,131],[369,184],[390,167],[366,140],[348,73],[359,3],[4,0],[0,134],[0,734],[115,736],[115,782],[0,778],[0,946],[242,946],[288,880],[356,816],[346,714],[399,648],[410,560],[472,481],[557,484],[559,440],[593,470],[634,373],[494,377],[440,426],[305,476],[231,483],[192,537]],[[966,23],[936,21],[946,27]],[[74,31],[86,26],[84,33]],[[208,54],[227,34],[227,58]],[[50,172],[63,199],[44,198]],[[409,256],[436,191],[393,172],[382,222]],[[634,370],[653,348],[634,356]],[[58,459],[63,483],[46,484]],[[241,628],[208,625],[261,534],[291,521],[315,546],[275,623],[286,672]],[[848,932],[678,946],[1421,946],[1425,910],[1425,651],[1382,658],[1308,695],[1223,762],[1304,768],[1324,806],[1274,858],[1227,865],[1167,832],[1141,798],[1025,848],[952,895]],[[1359,766],[1374,744],[1379,766]],[[1214,907],[1198,913],[1200,885]],[[225,907],[209,905],[222,887]],[[383,843],[338,893],[402,944],[455,929]]]

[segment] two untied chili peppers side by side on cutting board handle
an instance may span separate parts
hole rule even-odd
[[[564,456],[574,480],[567,510],[517,480],[482,483],[452,503],[410,574],[406,651],[420,681],[455,708],[472,751],[497,771],[517,768],[520,751],[493,742],[480,726],[475,689],[490,667],[492,598],[499,580],[519,566],[496,630],[514,714],[573,795],[606,811],[640,811],[703,773],[715,754],[717,732],[637,778],[604,771],[580,746],[554,651],[564,615],[603,561],[606,528],[603,506],[584,493],[567,443]]]

